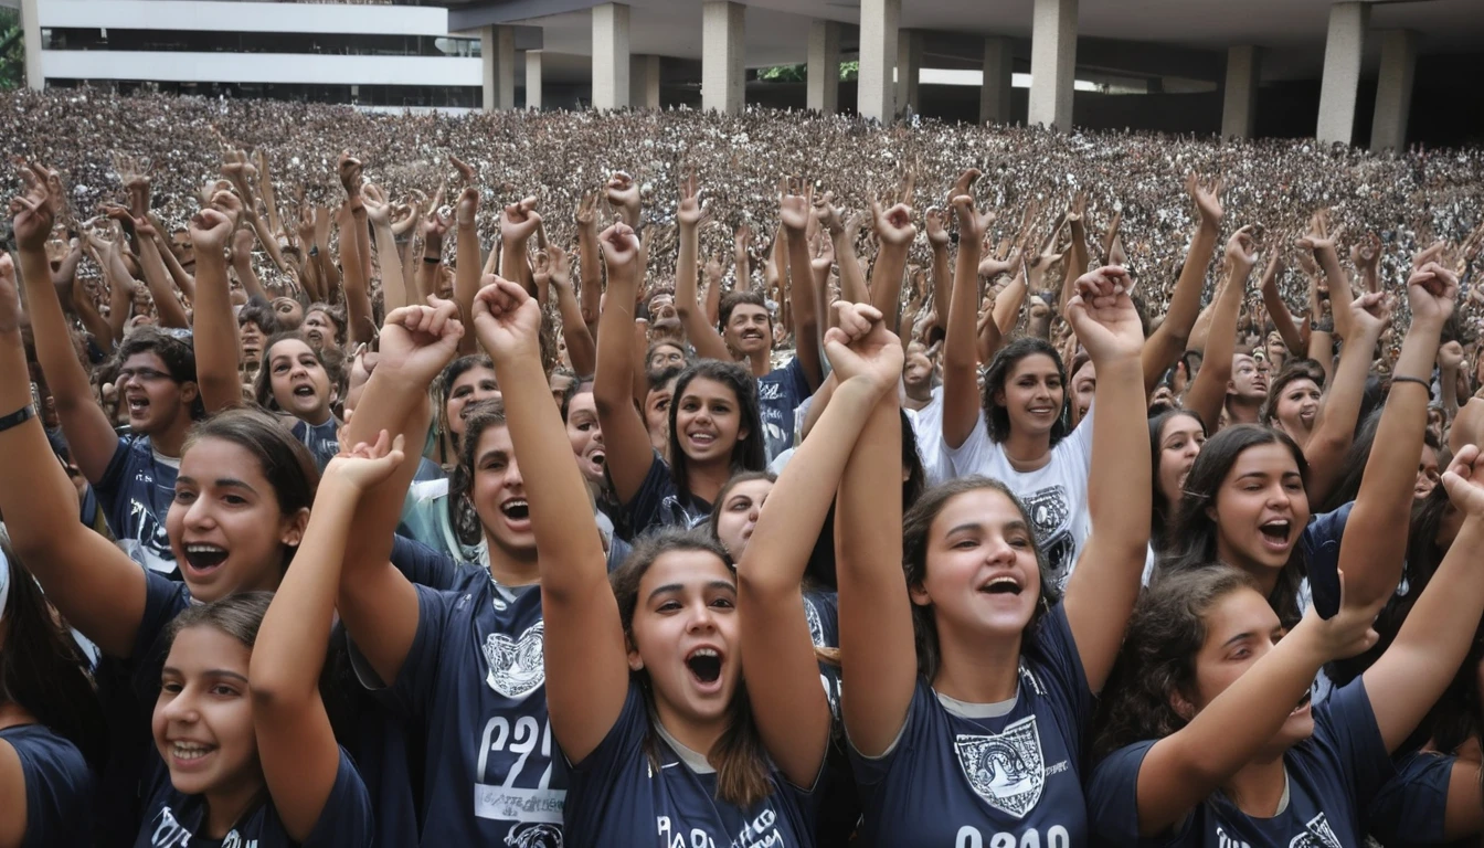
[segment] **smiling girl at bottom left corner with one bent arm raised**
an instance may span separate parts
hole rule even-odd
[[[335,743],[319,674],[350,518],[401,460],[386,434],[334,459],[279,591],[193,606],[171,624],[137,848],[371,845],[371,800]]]

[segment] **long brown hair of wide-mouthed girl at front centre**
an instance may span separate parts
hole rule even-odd
[[[623,622],[623,637],[634,645],[634,612],[640,603],[640,581],[665,554],[699,551],[715,555],[729,570],[736,566],[721,542],[711,538],[703,529],[677,530],[662,529],[643,536],[634,545],[623,564],[608,576],[613,585],[613,596],[619,601],[619,619]],[[659,735],[654,725],[659,717],[654,711],[654,688],[649,673],[644,670],[631,671],[631,677],[638,682],[644,692],[644,705],[649,713],[649,732],[644,735],[644,753],[650,765],[659,772]],[[763,740],[752,723],[752,707],[746,697],[746,680],[738,680],[736,692],[727,705],[727,729],[717,740],[709,751],[703,751],[706,759],[717,768],[717,798],[727,803],[749,808],[773,793],[769,780],[769,759],[763,748]]]

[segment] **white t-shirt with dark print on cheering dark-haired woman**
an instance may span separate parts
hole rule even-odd
[[[1020,498],[1030,515],[1036,544],[1046,554],[1048,576],[1061,588],[1066,588],[1092,529],[1088,520],[1092,414],[1094,410],[1088,410],[1077,428],[1051,449],[1046,465],[1024,474],[1011,466],[1003,446],[990,441],[984,410],[979,410],[974,431],[957,450],[944,443],[954,477],[981,474],[1005,483]]]

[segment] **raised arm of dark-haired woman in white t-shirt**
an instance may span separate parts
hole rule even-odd
[[[979,251],[991,218],[975,211],[969,195],[954,198],[953,211],[959,217],[959,258],[942,342],[942,440],[950,449],[957,449],[979,420],[975,318],[979,309]]]

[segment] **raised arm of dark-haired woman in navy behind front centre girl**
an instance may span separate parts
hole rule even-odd
[[[592,402],[598,407],[603,443],[608,449],[608,477],[619,502],[628,503],[654,463],[644,419],[634,405],[634,293],[638,290],[640,241],[628,224],[603,232],[608,266],[608,297],[598,319],[598,373]]]

